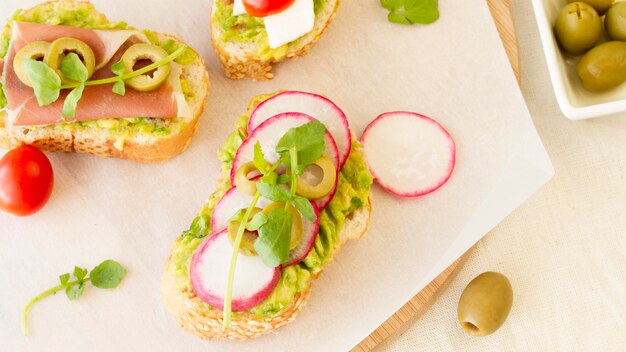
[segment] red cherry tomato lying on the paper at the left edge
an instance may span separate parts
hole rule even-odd
[[[0,159],[0,209],[18,216],[41,209],[52,193],[52,165],[39,149],[22,145]]]

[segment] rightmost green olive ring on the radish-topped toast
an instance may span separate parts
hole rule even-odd
[[[335,163],[323,156],[304,169],[298,176],[296,193],[309,199],[322,198],[333,190],[337,179]]]

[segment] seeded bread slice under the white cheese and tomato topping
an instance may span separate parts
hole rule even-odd
[[[232,3],[232,0],[215,0],[215,2]],[[255,42],[232,42],[222,40],[225,30],[216,19],[216,5],[213,4],[211,14],[211,40],[222,62],[224,71],[229,78],[242,79],[245,77],[254,80],[269,80],[274,77],[272,64],[286,59],[295,60],[305,55],[324,33],[335,18],[340,0],[322,0],[322,5],[315,15],[313,30],[298,40],[286,44],[287,50],[278,56],[265,57],[259,51]]]

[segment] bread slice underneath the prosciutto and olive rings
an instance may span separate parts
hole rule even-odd
[[[21,17],[29,16],[36,11],[54,11],[62,6],[64,10],[85,11],[98,18],[99,22],[107,21],[104,14],[95,10],[88,2],[61,0],[50,1],[37,5],[20,13]],[[7,23],[4,34],[10,33]],[[179,38],[170,34],[157,34],[158,40],[173,39],[182,43]],[[6,125],[6,114],[0,111],[0,149],[12,149],[20,144],[31,144],[43,151],[89,153],[102,157],[129,159],[138,162],[165,161],[181,153],[194,135],[198,119],[206,104],[209,94],[209,75],[202,57],[195,51],[195,61],[183,66],[182,78],[187,81],[192,95],[186,96],[192,112],[192,118],[175,118],[171,121],[151,121],[157,126],[169,126],[168,135],[157,135],[151,132],[134,132],[124,136],[124,130],[111,131],[98,128],[92,124],[63,124],[44,127],[9,127]],[[120,135],[122,137],[120,137]]]

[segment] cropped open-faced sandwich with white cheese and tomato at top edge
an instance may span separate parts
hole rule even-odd
[[[272,64],[306,54],[338,7],[339,0],[215,0],[211,38],[226,75],[273,78]]]

